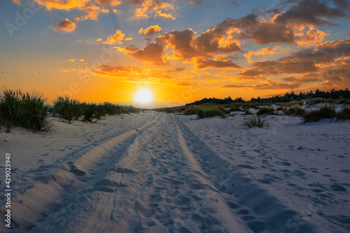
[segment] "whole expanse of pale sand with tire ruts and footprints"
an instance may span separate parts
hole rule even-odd
[[[3,132],[11,232],[349,232],[350,122],[245,118],[148,112]]]

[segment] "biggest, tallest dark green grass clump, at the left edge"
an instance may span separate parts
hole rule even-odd
[[[0,123],[10,132],[13,127],[24,127],[34,132],[50,130],[48,105],[42,95],[28,94],[21,90],[4,90],[0,99]]]

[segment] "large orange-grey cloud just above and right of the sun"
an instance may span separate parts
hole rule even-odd
[[[154,31],[156,27],[149,31]],[[140,33],[146,34],[148,29],[141,29]],[[230,33],[230,31],[228,32]],[[155,38],[155,42],[148,43],[146,48],[139,49],[134,45],[125,48],[118,47],[118,51],[154,64],[167,64],[167,58],[181,59],[195,62],[200,69],[204,68],[239,68],[230,60],[211,60],[216,53],[229,53],[241,51],[238,41],[235,41],[226,31],[218,31],[216,27],[209,29],[199,36],[195,36],[192,29],[183,31],[171,31]],[[164,55],[167,48],[172,48],[173,55]],[[221,57],[222,59],[222,57]]]

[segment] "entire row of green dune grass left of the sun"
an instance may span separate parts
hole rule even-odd
[[[104,104],[83,103],[69,97],[58,97],[53,106],[39,94],[28,94],[21,90],[4,90],[0,96],[0,126],[10,132],[14,127],[24,127],[33,132],[49,131],[52,121],[49,115],[58,116],[69,123],[75,120],[97,122],[104,115],[139,113],[139,108]]]

